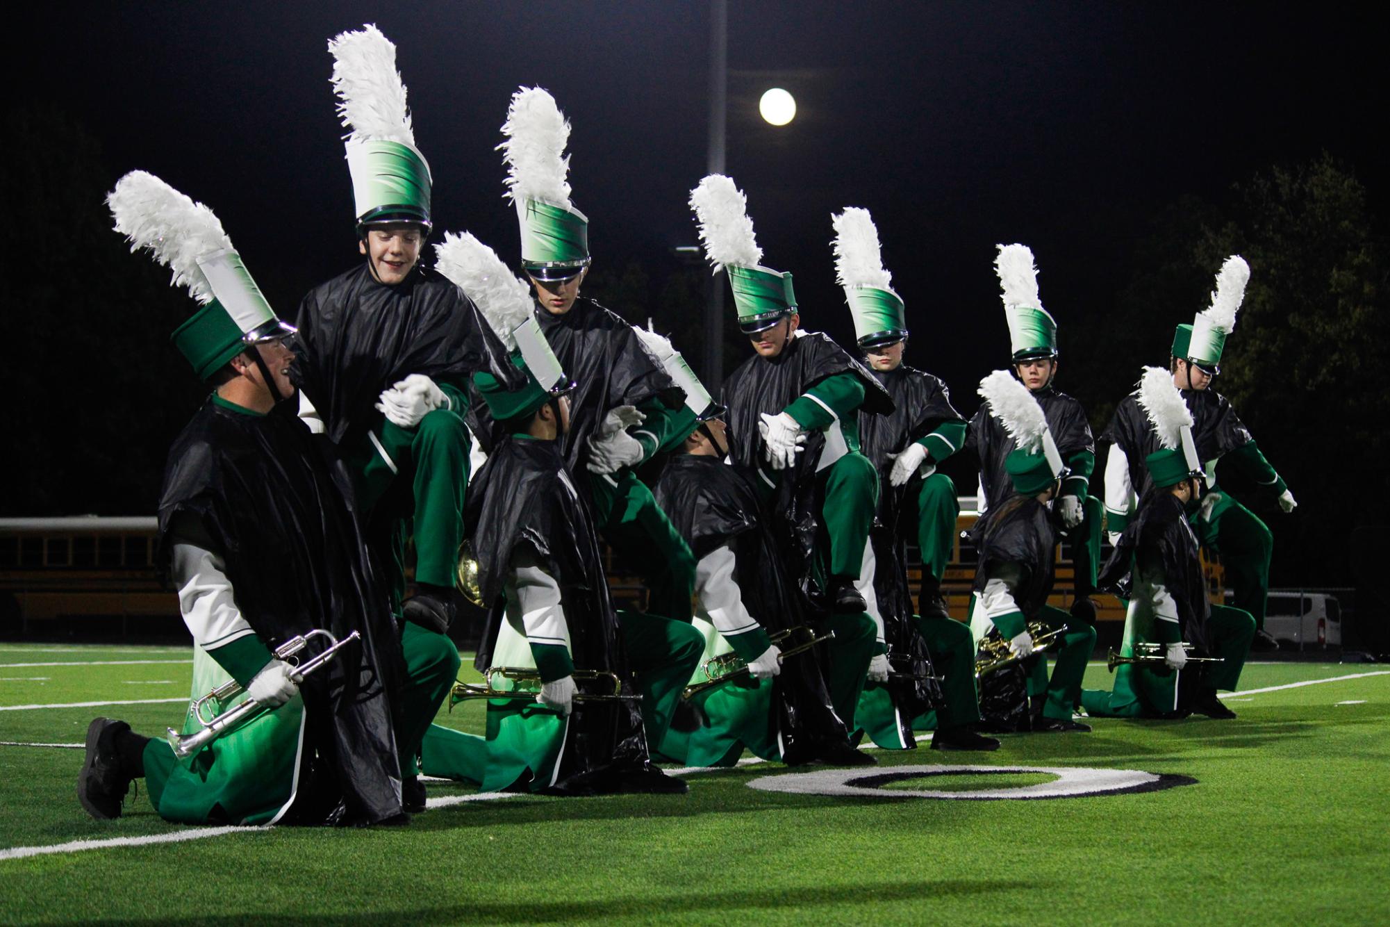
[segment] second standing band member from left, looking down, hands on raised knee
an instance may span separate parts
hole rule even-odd
[[[535,317],[578,384],[562,453],[599,534],[646,581],[648,609],[689,621],[695,557],[632,473],[680,427],[680,389],[631,325],[580,297],[592,263],[588,220],[570,202],[570,124],[555,99],[539,88],[520,89],[502,131],[507,196],[517,208],[521,265],[535,286]]]

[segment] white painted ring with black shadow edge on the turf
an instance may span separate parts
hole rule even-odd
[[[981,788],[969,792],[894,788],[890,782],[931,776],[1009,776],[1045,773],[1055,776],[1051,782],[1011,788]],[[1076,766],[895,766],[881,773],[865,774],[862,769],[816,770],[813,773],[785,773],[763,776],[748,782],[763,792],[792,795],[831,795],[837,798],[940,798],[948,801],[1001,801],[1041,798],[1086,798],[1088,795],[1116,795],[1122,792],[1151,792],[1173,785],[1187,785],[1186,776],[1159,776],[1143,770],[1102,770]]]

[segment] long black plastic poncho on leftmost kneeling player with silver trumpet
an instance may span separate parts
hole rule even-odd
[[[292,404],[250,416],[208,400],[193,416],[164,470],[158,561],[167,571],[181,539],[171,527],[192,524],[197,536],[182,539],[224,559],[236,607],[271,650],[314,628],[361,634],[300,687],[306,748],[317,746],[302,769],[314,785],[302,778],[300,792],[332,809],[324,794],[336,789],[348,820],[374,823],[402,810],[393,694],[404,664],[361,531]]]

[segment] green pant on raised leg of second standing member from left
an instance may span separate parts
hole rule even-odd
[[[648,610],[688,624],[695,614],[695,555],[689,545],[631,470],[585,474],[599,531],[646,582]]]

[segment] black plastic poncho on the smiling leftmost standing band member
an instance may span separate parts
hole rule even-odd
[[[418,265],[388,286],[364,261],[311,289],[296,325],[292,378],[336,445],[352,446],[379,424],[381,391],[410,374],[459,391],[481,370],[521,384],[478,307],[452,281]]]

